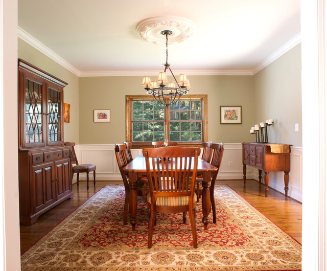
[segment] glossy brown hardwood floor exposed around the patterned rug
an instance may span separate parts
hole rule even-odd
[[[269,189],[268,197],[265,197],[264,185],[255,180],[247,179],[246,186],[242,180],[217,180],[216,184],[228,184],[233,190],[245,198],[253,207],[266,215],[281,229],[301,242],[302,236],[302,204],[285,198],[284,194]],[[97,181],[96,186],[90,182],[89,190],[86,190],[86,182],[80,182],[79,187],[73,185],[74,198],[66,200],[41,215],[30,226],[20,225],[20,252],[24,253],[37,242],[43,235],[51,231],[66,216],[77,209],[84,201],[99,191],[104,185],[113,182]]]

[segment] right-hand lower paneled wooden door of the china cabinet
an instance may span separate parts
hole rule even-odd
[[[71,162],[64,159],[55,162],[57,200],[71,192]]]

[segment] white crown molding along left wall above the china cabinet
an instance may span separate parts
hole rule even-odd
[[[66,60],[58,56],[55,52],[51,51],[48,47],[46,47],[43,43],[32,37],[25,30],[18,27],[18,37],[22,40],[29,43],[35,49],[39,50],[44,55],[50,57],[52,60],[56,61],[58,64],[62,65],[65,69],[72,72],[73,74],[80,76],[80,71],[77,70],[73,65],[69,64]]]

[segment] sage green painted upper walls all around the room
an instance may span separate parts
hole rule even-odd
[[[18,57],[66,81],[64,102],[71,104],[65,141],[114,144],[126,139],[125,95],[144,95],[141,76],[80,77],[18,38]],[[300,44],[254,76],[189,76],[190,94],[208,95],[208,140],[254,142],[254,124],[274,119],[269,141],[302,146]],[[154,78],[154,76],[152,76]],[[221,105],[242,105],[242,124],[220,124]],[[110,109],[110,123],[95,123],[94,109]],[[294,124],[299,131],[294,131]]]

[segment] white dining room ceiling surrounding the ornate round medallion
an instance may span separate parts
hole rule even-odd
[[[79,76],[150,75],[166,46],[136,26],[156,16],[195,24],[168,47],[171,69],[191,75],[254,74],[300,42],[300,0],[18,0],[18,36]]]

